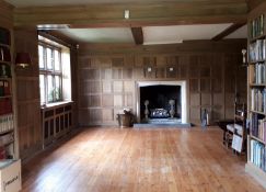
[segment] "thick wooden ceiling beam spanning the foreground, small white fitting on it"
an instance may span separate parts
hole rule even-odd
[[[130,19],[124,11],[130,11]],[[14,9],[15,26],[69,24],[71,27],[147,26],[240,23],[246,21],[244,0],[112,3]]]

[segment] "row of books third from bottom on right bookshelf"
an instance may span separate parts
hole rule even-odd
[[[251,90],[251,110],[266,113],[266,89]]]

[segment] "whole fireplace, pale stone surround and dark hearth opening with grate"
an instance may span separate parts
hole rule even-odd
[[[137,83],[137,92],[139,123],[187,123],[185,81],[142,81]]]

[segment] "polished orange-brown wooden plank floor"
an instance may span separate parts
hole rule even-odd
[[[265,192],[219,128],[90,128],[28,161],[23,190]]]

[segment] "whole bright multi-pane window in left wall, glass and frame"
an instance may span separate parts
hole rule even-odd
[[[41,104],[62,101],[61,48],[38,45]]]

